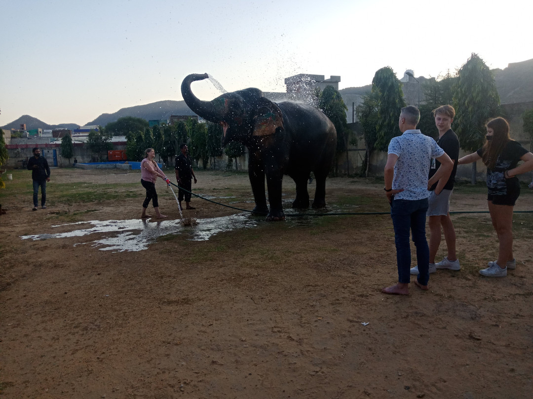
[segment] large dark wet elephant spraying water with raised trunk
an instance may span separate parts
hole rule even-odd
[[[194,113],[223,127],[222,147],[231,141],[247,147],[248,176],[255,199],[252,214],[267,214],[268,221],[285,220],[281,205],[285,174],[296,183],[292,208],[309,208],[307,185],[311,172],[316,179],[312,207],[325,208],[326,178],[337,144],[337,132],[329,118],[302,103],[274,103],[253,87],[224,93],[211,101],[199,100],[191,91],[191,83],[207,78],[207,74],[188,75],[181,84],[181,93]]]

